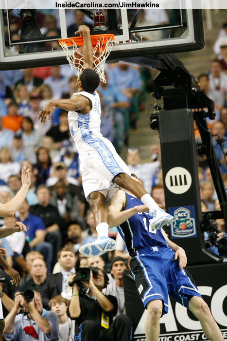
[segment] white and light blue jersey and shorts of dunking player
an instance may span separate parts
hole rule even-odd
[[[111,197],[119,189],[112,183],[119,173],[130,176],[130,170],[117,154],[112,143],[100,133],[101,105],[99,94],[82,91],[74,95],[83,95],[91,100],[92,108],[87,114],[69,112],[68,121],[71,136],[80,155],[82,184],[87,201],[89,194],[100,191]]]

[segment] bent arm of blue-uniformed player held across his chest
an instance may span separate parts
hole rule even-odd
[[[131,218],[134,214],[142,211],[149,210],[145,205],[135,206],[126,210],[122,210],[125,206],[125,192],[119,190],[108,203],[107,210],[109,213],[109,227],[115,227],[124,223],[127,219]]]

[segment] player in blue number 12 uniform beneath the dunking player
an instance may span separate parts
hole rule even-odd
[[[110,199],[108,212],[109,226],[118,226],[132,256],[131,271],[148,312],[146,341],[158,340],[160,317],[168,312],[168,294],[192,311],[209,340],[224,341],[207,303],[185,269],[184,249],[170,241],[162,228],[152,228],[152,216],[141,200],[127,190],[119,190]]]

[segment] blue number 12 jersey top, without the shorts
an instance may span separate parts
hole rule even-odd
[[[125,195],[125,210],[143,205],[140,199],[127,193]],[[125,241],[129,253],[154,246],[168,247],[161,229],[155,230],[151,228],[151,222],[152,217],[148,212],[138,212],[118,226],[118,230]]]

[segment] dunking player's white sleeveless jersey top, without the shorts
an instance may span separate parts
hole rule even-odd
[[[96,91],[93,95],[87,93],[87,91],[81,91],[74,95],[83,95],[89,98],[92,103],[92,108],[87,114],[80,114],[75,111],[70,111],[68,114],[70,133],[80,153],[80,146],[84,140],[91,138],[91,136],[103,136],[100,132],[101,105],[99,94]]]

